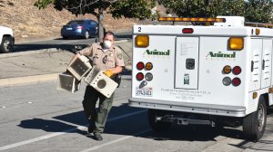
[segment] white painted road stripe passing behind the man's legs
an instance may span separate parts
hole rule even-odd
[[[139,110],[139,111],[136,111],[136,112],[128,113],[126,115],[118,116],[118,117],[113,118],[113,119],[108,119],[107,122],[115,121],[117,119],[124,119],[126,117],[137,115],[137,114],[143,113],[145,111],[147,111],[147,110],[144,109],[144,110]],[[20,146],[30,144],[30,143],[34,143],[36,141],[44,140],[44,139],[47,139],[47,138],[54,138],[54,137],[59,136],[59,135],[63,135],[63,134],[69,133],[69,132],[76,131],[77,129],[82,130],[82,129],[86,128],[87,125],[85,125],[85,126],[75,125],[75,126],[77,128],[70,128],[70,129],[66,129],[66,130],[61,131],[61,132],[56,132],[56,133],[48,134],[48,135],[41,136],[41,137],[38,137],[38,138],[31,138],[31,139],[28,139],[28,140],[25,140],[25,141],[17,142],[15,144],[6,145],[4,147],[0,147],[0,151],[10,149],[10,148],[14,148],[14,147],[20,147]]]

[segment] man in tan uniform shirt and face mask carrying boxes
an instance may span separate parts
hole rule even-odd
[[[92,61],[92,66],[105,71],[106,76],[114,78],[125,66],[123,55],[120,49],[114,46],[114,33],[106,32],[103,43],[93,43],[90,47],[76,53],[86,55]],[[74,58],[76,57],[74,56]],[[102,140],[101,134],[106,125],[107,115],[112,108],[114,94],[107,99],[100,92],[91,86],[86,86],[86,93],[83,100],[83,107],[88,119],[88,133],[94,133],[96,140]],[[99,100],[98,111],[96,112],[96,101]]]

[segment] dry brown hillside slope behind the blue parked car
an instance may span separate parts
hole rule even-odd
[[[91,14],[76,17],[67,10],[56,11],[53,5],[39,10],[34,6],[35,0],[1,0],[0,1],[0,24],[14,29],[15,39],[22,38],[22,35],[29,37],[59,37],[60,29],[73,19],[93,19]],[[137,20],[134,19],[113,19],[111,14],[106,14],[104,25],[106,30],[119,31],[131,29]]]

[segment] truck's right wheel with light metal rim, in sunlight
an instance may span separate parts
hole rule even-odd
[[[243,130],[246,138],[259,140],[262,138],[267,124],[267,105],[263,96],[258,99],[257,111],[243,119]]]

